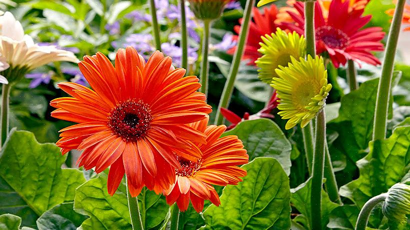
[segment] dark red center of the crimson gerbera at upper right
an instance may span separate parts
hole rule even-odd
[[[340,29],[324,25],[316,29],[316,40],[330,48],[343,49],[348,45],[349,37]]]

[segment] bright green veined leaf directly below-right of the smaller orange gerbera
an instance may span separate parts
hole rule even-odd
[[[279,162],[258,157],[242,166],[247,175],[238,185],[227,185],[219,207],[204,212],[204,229],[289,229],[289,178]]]

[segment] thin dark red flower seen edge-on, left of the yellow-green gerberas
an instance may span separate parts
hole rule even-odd
[[[262,110],[258,111],[255,114],[250,115],[249,112],[245,112],[243,117],[236,115],[234,112],[227,108],[220,108],[220,113],[223,117],[225,117],[231,124],[226,128],[226,130],[230,130],[234,128],[239,122],[242,120],[253,120],[259,118],[274,118],[270,112],[277,107],[279,104],[279,98],[277,97],[276,90],[273,92],[272,96],[269,99],[267,105],[262,108]]]

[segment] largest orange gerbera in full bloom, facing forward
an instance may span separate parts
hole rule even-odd
[[[205,119],[211,107],[196,76],[174,69],[171,58],[155,51],[148,61],[130,46],[119,49],[115,67],[102,53],[78,63],[92,89],[73,82],[58,86],[72,97],[54,99],[53,117],[78,124],[60,130],[62,154],[83,150],[77,163],[99,173],[110,166],[108,193],[124,173],[132,196],[146,185],[161,191],[174,183],[180,168],[175,152],[195,162],[204,134],[189,123]]]

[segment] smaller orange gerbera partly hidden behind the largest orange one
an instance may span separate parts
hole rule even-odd
[[[219,196],[212,184],[237,184],[242,181],[239,177],[246,175],[245,169],[236,166],[247,163],[249,158],[242,141],[236,135],[219,138],[226,126],[206,126],[207,121],[204,119],[191,124],[206,135],[206,144],[196,142],[202,157],[195,162],[177,156],[181,168],[175,171],[175,183],[163,192],[166,202],[171,205],[176,201],[181,211],[188,208],[189,200],[197,212],[202,211],[205,199],[218,206]]]

